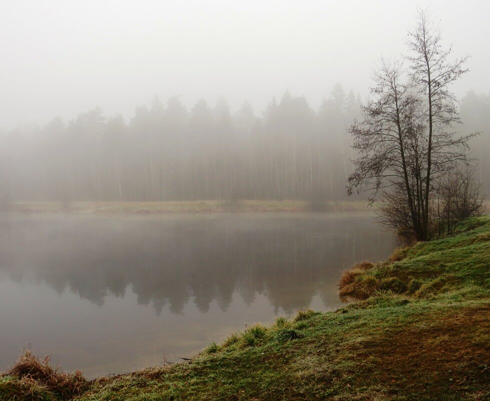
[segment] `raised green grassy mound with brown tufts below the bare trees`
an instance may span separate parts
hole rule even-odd
[[[454,236],[419,242],[367,269],[354,267],[341,278],[343,296],[366,298],[388,290],[429,297],[462,287],[490,288],[490,216],[471,218]]]

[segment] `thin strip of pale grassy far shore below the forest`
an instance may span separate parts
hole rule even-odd
[[[308,203],[301,200],[219,200],[166,202],[15,202],[9,211],[22,213],[96,213],[96,214],[158,214],[158,213],[218,213],[218,212],[304,212]],[[328,211],[372,210],[365,201],[337,201],[326,205]]]

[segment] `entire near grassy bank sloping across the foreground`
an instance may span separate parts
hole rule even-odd
[[[7,372],[0,399],[490,399],[490,216],[360,263],[340,291],[357,300],[252,325],[189,362],[87,383],[77,373],[69,395]]]

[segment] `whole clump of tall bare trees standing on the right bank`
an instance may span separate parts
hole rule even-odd
[[[472,136],[455,136],[456,98],[448,90],[467,71],[462,69],[467,57],[448,60],[451,49],[442,50],[439,28],[425,11],[410,38],[410,73],[401,61],[382,60],[373,77],[374,100],[362,107],[362,121],[348,131],[359,152],[348,193],[371,191],[371,201],[380,196],[382,223],[426,240],[434,180],[466,160]]]

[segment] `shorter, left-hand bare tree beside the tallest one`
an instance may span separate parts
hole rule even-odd
[[[375,99],[362,106],[362,120],[349,129],[359,157],[348,178],[348,193],[369,191],[371,202],[380,195],[386,202],[381,222],[395,230],[413,230],[422,239],[424,127],[421,100],[400,82],[405,72],[401,61],[382,59],[374,73]]]

